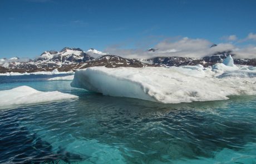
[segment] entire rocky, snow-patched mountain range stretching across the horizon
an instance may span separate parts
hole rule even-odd
[[[150,52],[157,52],[156,48],[147,49]],[[40,57],[22,61],[18,57],[0,59],[0,73],[6,72],[39,72],[39,71],[75,71],[94,66],[105,67],[146,67],[146,66],[186,66],[201,64],[204,67],[212,66],[222,62],[231,51],[217,52],[203,58],[188,57],[154,57],[149,59],[129,59],[109,53],[103,53],[96,49],[83,51],[80,48],[65,47],[61,51],[45,51]],[[168,56],[168,54],[166,54]],[[256,58],[234,59],[235,64],[256,66]]]

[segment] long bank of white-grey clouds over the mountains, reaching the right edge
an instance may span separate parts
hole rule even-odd
[[[256,41],[256,34],[249,33],[244,39],[239,39],[235,35],[225,36],[223,39],[226,42],[217,44],[202,38],[164,39],[155,44],[154,51],[146,51],[143,48],[127,49],[112,46],[107,47],[105,52],[128,58],[152,58],[159,56],[201,58],[218,52],[231,52],[235,54],[234,58],[256,58],[255,44],[237,44],[240,42]]]

